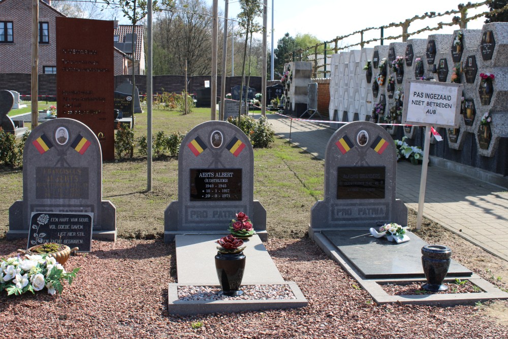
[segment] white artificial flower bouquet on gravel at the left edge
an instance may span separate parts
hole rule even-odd
[[[66,272],[55,258],[47,255],[26,255],[2,259],[0,263],[0,292],[6,290],[7,295],[20,295],[27,291],[35,294],[43,288],[54,295],[56,291],[62,292],[62,282],[67,280],[72,284],[80,267],[72,272]]]

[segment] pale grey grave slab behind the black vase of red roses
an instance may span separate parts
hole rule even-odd
[[[176,235],[176,272],[179,284],[219,284],[214,261],[217,254],[215,241],[226,235]],[[243,253],[247,259],[242,285],[285,283],[258,235],[253,235],[244,244],[246,247]]]

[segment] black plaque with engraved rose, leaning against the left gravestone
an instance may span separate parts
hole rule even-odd
[[[93,213],[33,212],[26,248],[55,242],[71,249],[78,247],[77,252],[90,252],[92,225]]]

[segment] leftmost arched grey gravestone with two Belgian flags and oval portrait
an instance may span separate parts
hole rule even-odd
[[[82,122],[51,119],[28,136],[23,200],[9,208],[7,238],[26,238],[33,212],[93,213],[93,238],[116,239],[116,208],[102,200],[101,145]]]

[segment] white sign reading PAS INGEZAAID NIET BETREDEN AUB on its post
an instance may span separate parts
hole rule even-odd
[[[422,178],[418,199],[417,230],[422,227],[431,128],[432,126],[459,127],[462,87],[463,85],[458,83],[424,80],[406,80],[404,85],[402,124],[426,126]]]

